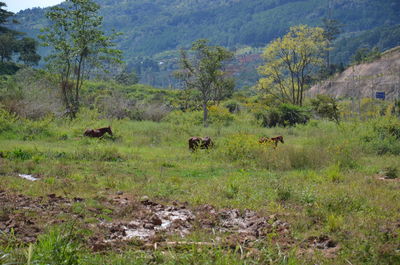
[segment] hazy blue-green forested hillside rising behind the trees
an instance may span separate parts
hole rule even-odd
[[[342,25],[337,56],[348,63],[360,46],[381,49],[399,45],[400,2],[398,0],[97,0],[106,31],[123,35],[118,48],[125,60],[153,85],[171,83],[168,73],[176,67],[171,50],[188,47],[199,38],[229,48],[264,47],[284,35],[290,26],[322,25],[331,15]],[[17,14],[17,28],[39,34],[47,23],[45,10],[30,9]],[[361,43],[363,43],[361,45]],[[172,59],[172,60],[171,60]],[[161,64],[160,64],[161,63]],[[158,72],[157,78],[154,73]],[[254,73],[252,73],[254,75]],[[160,80],[162,78],[163,80]],[[249,77],[250,78],[250,77]]]

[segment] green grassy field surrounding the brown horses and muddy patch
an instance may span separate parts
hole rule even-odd
[[[312,120],[265,129],[238,114],[229,126],[203,128],[111,122],[88,113],[74,121],[36,122],[3,114],[0,192],[32,204],[49,194],[71,201],[67,210],[43,218],[11,202],[0,207],[0,224],[25,216],[40,230],[27,243],[7,224],[0,226],[0,264],[398,264],[400,144],[390,135],[391,124],[398,120]],[[87,128],[108,125],[113,137],[82,136]],[[264,135],[282,135],[285,143],[276,149],[258,144]],[[190,152],[190,136],[210,136],[216,146]],[[115,194],[165,205],[187,202],[189,209],[250,209],[290,228],[284,237],[269,231],[253,242],[229,243],[218,239],[227,233],[196,229],[185,238],[159,240],[185,245],[149,249],[130,240],[97,251],[91,227],[116,217],[117,207],[105,203]]]

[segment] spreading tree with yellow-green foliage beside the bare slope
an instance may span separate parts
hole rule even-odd
[[[259,80],[258,88],[282,103],[302,106],[311,75],[324,62],[323,33],[322,28],[300,25],[271,42],[263,53],[266,64],[258,69],[265,76]]]

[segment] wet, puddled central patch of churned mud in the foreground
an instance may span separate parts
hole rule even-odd
[[[164,205],[148,198],[137,201],[120,195],[111,198],[109,203],[118,212],[114,213],[113,221],[97,225],[101,233],[92,238],[96,250],[121,242],[153,244],[166,241],[172,235],[184,238],[198,230],[212,233],[213,242],[232,247],[251,245],[268,233],[275,233],[281,242],[290,241],[288,223],[250,210],[217,210],[211,205],[191,209],[180,202]]]

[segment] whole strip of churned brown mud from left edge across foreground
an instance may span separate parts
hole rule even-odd
[[[82,198],[55,194],[33,198],[0,190],[0,234],[9,235],[13,231],[18,240],[34,242],[49,225],[75,222],[92,232],[85,240],[93,251],[123,249],[132,246],[132,242],[141,248],[179,246],[188,243],[185,237],[194,231],[210,235],[204,242],[191,242],[198,245],[236,247],[240,244],[252,248],[266,237],[283,249],[296,244],[290,225],[275,215],[216,209],[211,205],[190,207],[181,202],[165,205],[147,197],[137,199],[121,193],[99,201],[101,209],[87,206]],[[76,204],[83,205],[85,210],[77,213]],[[324,236],[309,238],[301,245],[304,249],[330,252],[338,248],[336,242]]]

